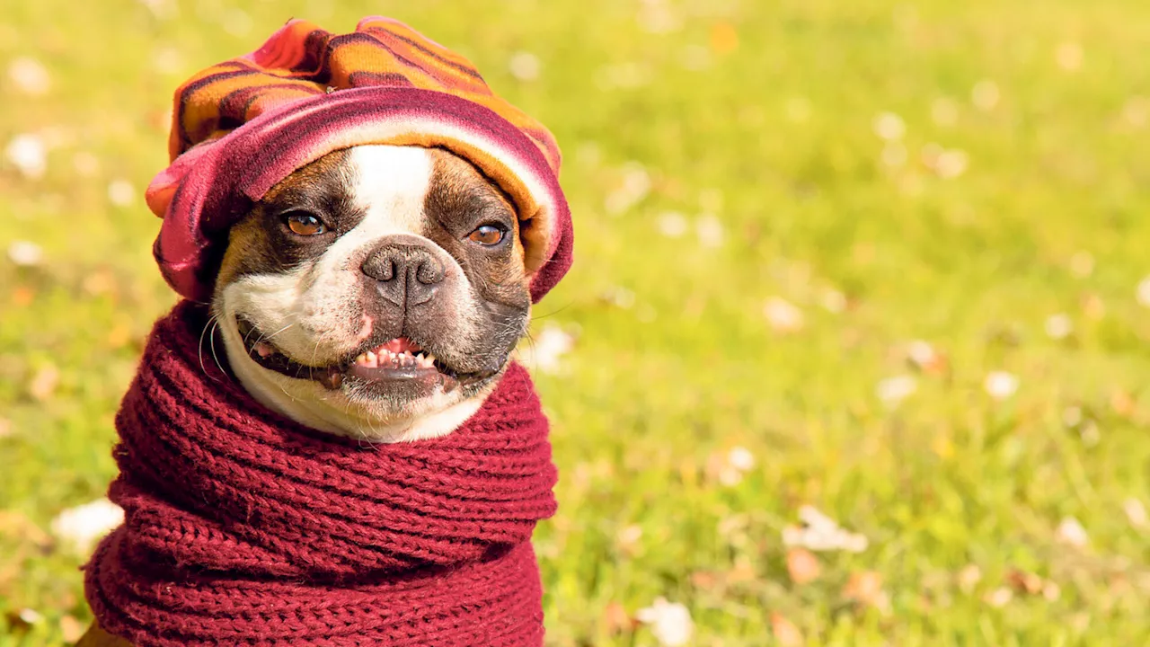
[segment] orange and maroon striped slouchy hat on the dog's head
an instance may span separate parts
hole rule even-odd
[[[154,254],[182,296],[212,298],[228,230],[277,182],[339,149],[439,146],[474,163],[519,214],[534,300],[572,264],[559,149],[475,67],[391,18],[334,35],[291,21],[255,52],[176,90],[171,166],[147,189]]]

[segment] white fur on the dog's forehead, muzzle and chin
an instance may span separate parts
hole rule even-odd
[[[362,220],[313,260],[290,271],[245,275],[220,290],[215,310],[228,358],[258,401],[313,428],[384,442],[450,433],[478,409],[486,391],[465,399],[460,389],[439,389],[402,406],[356,399],[346,389],[330,390],[260,366],[240,336],[238,314],[288,357],[324,366],[343,361],[370,335],[371,320],[359,303],[360,266],[384,236],[422,237],[435,165],[425,149],[386,145],[352,149],[345,165],[346,193],[362,210]],[[468,318],[476,315],[470,283],[458,261],[446,252],[440,256],[458,280],[453,292],[437,298],[458,304],[460,329],[466,330]]]

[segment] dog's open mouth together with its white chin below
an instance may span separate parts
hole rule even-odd
[[[371,442],[445,435],[477,409],[506,368],[459,372],[408,338],[368,341],[314,366],[277,349],[243,318],[222,322],[233,372],[262,404],[316,429]]]

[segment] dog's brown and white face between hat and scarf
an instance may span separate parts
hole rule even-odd
[[[232,227],[213,310],[256,399],[396,441],[478,409],[530,305],[499,189],[446,151],[373,145],[297,170]]]

